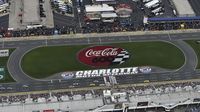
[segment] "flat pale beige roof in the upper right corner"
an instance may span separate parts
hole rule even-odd
[[[192,9],[188,0],[172,0],[172,1],[176,7],[178,16],[180,16],[180,17],[195,16],[195,12]]]

